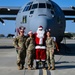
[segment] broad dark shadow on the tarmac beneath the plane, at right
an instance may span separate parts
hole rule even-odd
[[[61,44],[60,51],[55,51],[55,54],[75,56],[75,44]]]

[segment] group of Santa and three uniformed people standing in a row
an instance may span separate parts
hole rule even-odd
[[[14,47],[17,51],[18,69],[22,70],[27,57],[28,69],[33,68],[33,62],[36,60],[36,69],[39,69],[39,63],[42,62],[43,69],[46,69],[47,61],[48,70],[55,70],[54,50],[56,42],[51,37],[51,31],[44,31],[42,26],[39,26],[36,33],[28,32],[28,36],[24,35],[25,28],[19,27],[19,35],[13,40]],[[59,49],[57,48],[59,51]],[[52,67],[51,67],[52,65]]]

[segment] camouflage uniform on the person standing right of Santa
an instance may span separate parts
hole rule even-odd
[[[50,69],[50,64],[52,64],[52,68],[55,68],[55,60],[54,60],[54,42],[51,37],[47,37],[46,39],[46,55],[47,55],[47,65],[48,69]],[[53,51],[52,51],[53,50]]]

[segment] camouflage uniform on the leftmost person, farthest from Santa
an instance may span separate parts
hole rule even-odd
[[[15,48],[20,47],[21,49],[16,49],[17,51],[17,65],[20,67],[24,67],[25,57],[26,57],[26,36],[17,36],[14,38],[14,46]]]

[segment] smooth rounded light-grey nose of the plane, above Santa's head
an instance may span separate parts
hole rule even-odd
[[[43,17],[37,17],[30,21],[30,30],[33,30],[35,32],[39,26],[42,26],[44,30],[46,30],[47,19]]]

